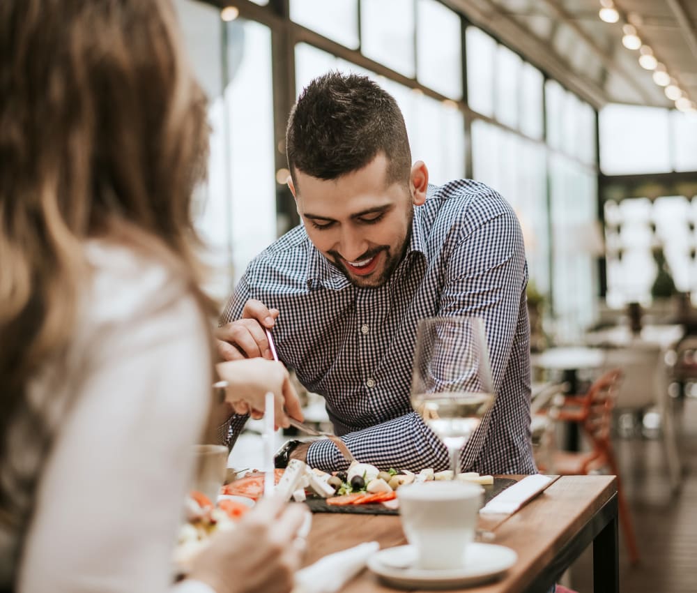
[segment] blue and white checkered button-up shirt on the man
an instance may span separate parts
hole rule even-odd
[[[409,400],[416,326],[422,317],[482,317],[497,398],[462,449],[461,467],[530,474],[527,281],[510,204],[461,179],[429,186],[425,204],[414,207],[404,259],[385,285],[352,285],[300,225],[250,263],[220,322],[238,319],[247,299],[277,308],[279,359],[325,398],[335,432],[355,458],[381,469],[444,470],[447,450]],[[224,427],[229,446],[246,419],[232,416]],[[330,440],[314,442],[307,463],[322,470],[347,465]]]

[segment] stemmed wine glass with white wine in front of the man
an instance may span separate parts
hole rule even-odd
[[[420,320],[411,405],[447,446],[453,477],[460,450],[495,396],[484,322],[479,317]]]

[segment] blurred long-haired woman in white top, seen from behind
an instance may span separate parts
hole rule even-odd
[[[0,3],[0,590],[170,587],[213,380],[207,142],[169,1]],[[290,393],[266,362],[238,407]],[[178,587],[289,590],[304,513],[259,506]]]

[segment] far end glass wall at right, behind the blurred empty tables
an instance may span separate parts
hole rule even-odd
[[[604,196],[608,306],[650,306],[675,291],[695,299],[697,188],[671,182],[671,175],[697,170],[697,117],[608,105],[599,129],[604,174],[644,178],[639,186],[618,184]]]

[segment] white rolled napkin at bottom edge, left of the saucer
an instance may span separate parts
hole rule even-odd
[[[296,573],[293,593],[335,593],[364,567],[368,558],[380,549],[376,541],[325,556]]]

